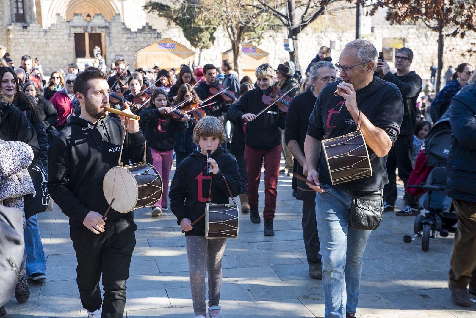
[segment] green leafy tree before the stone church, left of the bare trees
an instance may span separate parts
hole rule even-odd
[[[209,49],[215,42],[215,31],[219,19],[208,14],[206,9],[196,0],[184,0],[170,6],[156,1],[149,1],[144,5],[148,13],[155,12],[159,17],[177,24],[183,31],[190,44],[199,49],[198,65],[201,64],[202,50]]]

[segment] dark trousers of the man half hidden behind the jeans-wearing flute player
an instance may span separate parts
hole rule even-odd
[[[309,265],[321,264],[322,256],[319,254],[321,244],[317,233],[316,203],[302,201],[302,234],[306,248],[307,263]]]

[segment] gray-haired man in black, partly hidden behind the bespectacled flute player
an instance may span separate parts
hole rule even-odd
[[[316,225],[316,193],[306,185],[307,163],[304,157],[304,140],[312,109],[320,91],[328,83],[335,82],[336,69],[334,64],[327,61],[317,62],[309,71],[307,79],[308,91],[297,95],[289,104],[286,115],[284,139],[289,151],[297,161],[296,173],[302,178],[297,179],[296,199],[302,200],[302,232],[306,248],[309,276],[322,279],[320,244]]]

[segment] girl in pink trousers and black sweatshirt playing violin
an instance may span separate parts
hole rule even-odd
[[[169,116],[171,109],[167,92],[163,89],[154,89],[148,106],[139,112],[139,127],[149,143],[153,165],[159,171],[164,187],[161,199],[152,207],[153,217],[169,209],[167,203],[169,172],[172,167],[176,136],[185,132],[190,119],[190,115],[184,115],[181,120],[172,119]]]

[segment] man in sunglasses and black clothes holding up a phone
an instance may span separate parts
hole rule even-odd
[[[397,176],[395,170],[398,168],[398,176],[403,180],[405,187],[408,178],[412,173],[412,147],[413,134],[415,132],[415,121],[417,119],[417,98],[420,95],[422,80],[415,71],[410,71],[410,65],[413,61],[413,51],[408,48],[401,48],[395,54],[396,73],[390,72],[385,60],[378,60],[377,73],[383,80],[397,85],[403,98],[403,120],[400,127],[395,145],[390,149],[387,157],[387,173],[388,183],[384,187],[384,209],[385,211],[393,211],[395,209],[395,201],[397,200]],[[397,216],[411,216],[420,214],[418,209],[417,197],[410,196],[406,193],[408,205],[401,211],[397,212]]]

